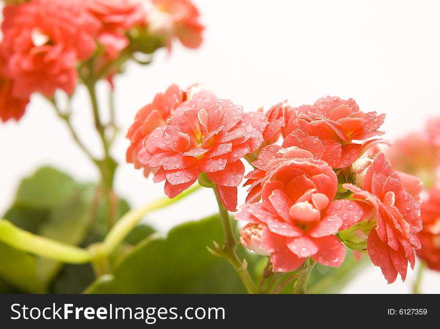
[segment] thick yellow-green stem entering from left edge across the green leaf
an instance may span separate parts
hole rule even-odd
[[[92,257],[87,250],[34,235],[5,219],[0,219],[0,241],[18,250],[64,263],[87,263]]]

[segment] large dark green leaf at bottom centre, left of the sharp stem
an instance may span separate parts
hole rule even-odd
[[[178,225],[166,238],[153,234],[122,257],[113,275],[98,279],[86,292],[244,293],[232,266],[206,249],[222,239],[217,215]],[[254,257],[241,246],[238,252],[253,269]]]

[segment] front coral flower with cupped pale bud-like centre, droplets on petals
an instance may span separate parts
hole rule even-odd
[[[333,201],[337,178],[324,161],[304,150],[287,152],[301,157],[291,154],[269,161],[260,182],[262,201],[244,204],[236,214],[236,219],[249,222],[241,229],[240,241],[269,254],[273,271],[293,271],[306,257],[338,267],[345,247],[334,234],[361,220],[362,208],[351,200]]]

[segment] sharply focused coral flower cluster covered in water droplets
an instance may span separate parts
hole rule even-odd
[[[294,271],[307,257],[338,267],[348,247],[368,254],[388,282],[405,279],[420,248],[422,187],[377,151],[387,144],[378,138],[383,114],[338,97],[244,113],[202,88],[170,88],[156,96],[164,102],[138,112],[127,152],[128,162],[165,181],[170,198],[207,177],[235,211],[246,159],[254,169],[235,216],[247,222],[240,242],[269,256],[273,271]]]

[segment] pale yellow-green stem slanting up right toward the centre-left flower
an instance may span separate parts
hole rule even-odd
[[[116,222],[116,224],[111,228],[111,230],[105,237],[102,246],[103,253],[107,255],[111,254],[128,235],[128,233],[130,233],[131,230],[139,223],[139,221],[147,212],[164,208],[170,204],[173,204],[174,202],[177,202],[178,200],[184,198],[185,196],[191,194],[199,188],[200,185],[195,185],[191,188],[188,188],[186,191],[183,191],[173,199],[164,197],[157,201],[149,203],[144,207],[127,212]]]

